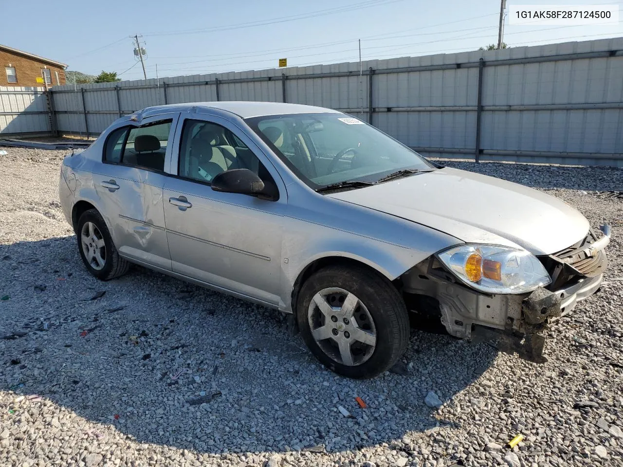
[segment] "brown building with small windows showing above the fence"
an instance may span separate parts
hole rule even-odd
[[[55,60],[0,44],[0,86],[63,85],[65,68],[67,65]]]

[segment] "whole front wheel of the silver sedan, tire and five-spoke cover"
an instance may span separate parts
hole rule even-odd
[[[350,378],[383,373],[409,343],[409,316],[398,291],[362,267],[316,271],[298,294],[297,320],[316,358]]]

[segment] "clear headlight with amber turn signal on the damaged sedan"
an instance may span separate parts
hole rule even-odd
[[[437,258],[462,282],[485,293],[525,293],[551,282],[541,262],[526,250],[460,245]]]

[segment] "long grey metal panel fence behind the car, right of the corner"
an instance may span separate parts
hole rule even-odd
[[[284,72],[285,71],[285,72]],[[50,128],[146,106],[264,100],[353,113],[427,155],[623,166],[623,38],[55,87]],[[0,134],[2,127],[0,125]]]

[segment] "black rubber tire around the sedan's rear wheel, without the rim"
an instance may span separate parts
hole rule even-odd
[[[105,263],[103,268],[99,270],[90,265],[82,248],[82,228],[87,222],[95,224],[104,240],[106,248]],[[130,263],[119,256],[115,243],[113,243],[112,237],[110,237],[110,232],[108,231],[106,222],[97,209],[89,209],[82,213],[80,219],[78,219],[78,225],[76,226],[76,236],[78,242],[78,252],[80,252],[82,262],[85,267],[87,267],[87,270],[98,279],[103,281],[114,279],[124,275],[128,271],[128,268],[130,268]]]

